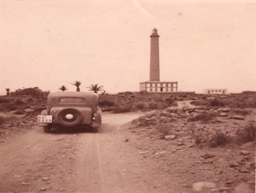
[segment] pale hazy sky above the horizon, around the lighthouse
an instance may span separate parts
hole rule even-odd
[[[256,90],[256,2],[0,0],[0,94],[81,81],[108,93],[149,80],[157,28],[160,80],[178,91]]]

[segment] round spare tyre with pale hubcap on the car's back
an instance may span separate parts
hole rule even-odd
[[[63,109],[58,113],[59,123],[65,127],[76,126],[81,123],[83,116],[77,109]]]

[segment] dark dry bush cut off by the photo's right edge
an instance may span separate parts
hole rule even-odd
[[[253,121],[250,121],[243,129],[238,129],[236,135],[239,141],[246,143],[248,141],[255,141],[256,126]]]

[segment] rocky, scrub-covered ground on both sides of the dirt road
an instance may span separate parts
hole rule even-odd
[[[0,145],[30,132],[45,108],[45,101],[28,97],[2,101]],[[141,167],[151,168],[145,175],[162,179],[152,187],[156,192],[172,193],[175,186],[177,193],[254,193],[255,101],[255,95],[128,92],[102,96],[100,105],[104,115],[143,114],[122,126],[130,134],[119,143],[137,150]]]

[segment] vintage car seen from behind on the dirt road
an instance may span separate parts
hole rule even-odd
[[[91,92],[51,92],[47,98],[47,109],[38,115],[44,132],[52,127],[84,126],[97,132],[102,123],[99,95]]]

